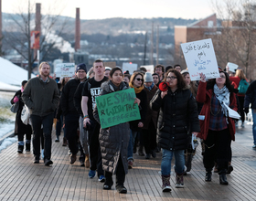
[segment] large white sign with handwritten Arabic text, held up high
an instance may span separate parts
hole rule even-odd
[[[211,38],[180,45],[191,80],[199,80],[199,73],[207,79],[219,78],[219,69]]]

